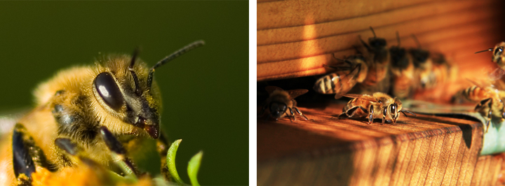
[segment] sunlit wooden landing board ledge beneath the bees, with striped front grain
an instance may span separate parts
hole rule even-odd
[[[342,105],[300,108],[314,121],[257,123],[258,185],[497,185],[503,156],[483,156],[483,124],[401,115],[337,120]],[[501,178],[501,180],[499,179]]]

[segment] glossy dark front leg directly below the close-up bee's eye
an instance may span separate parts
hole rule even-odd
[[[123,144],[118,141],[114,135],[107,129],[107,127],[100,127],[100,136],[102,137],[107,148],[113,152],[114,158],[119,158],[123,161],[126,166],[128,166],[128,171],[135,174],[135,176],[140,176],[140,171],[137,169],[137,166],[133,163],[133,161],[126,156],[126,149],[123,147]]]

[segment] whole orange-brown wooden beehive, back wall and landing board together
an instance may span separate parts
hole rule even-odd
[[[485,76],[491,54],[474,52],[504,39],[503,9],[500,1],[258,1],[258,85],[329,73],[323,64],[354,55],[369,27],[395,45],[398,31],[405,47],[417,47],[415,34],[457,64],[461,80]],[[436,91],[431,99],[452,90]],[[504,184],[504,156],[479,155],[476,120],[419,115],[369,125],[333,119],[342,104],[300,106],[314,122],[258,120],[258,185]]]

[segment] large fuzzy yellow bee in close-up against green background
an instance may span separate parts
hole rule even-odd
[[[203,44],[195,41],[151,68],[137,59],[137,50],[132,57],[109,55],[94,66],[60,71],[39,85],[36,108],[2,136],[0,182],[31,185],[40,181],[33,176],[41,178],[41,172],[62,176],[79,172],[83,164],[140,177],[134,160],[149,150],[152,139],[161,155],[161,173],[169,178],[154,70]]]

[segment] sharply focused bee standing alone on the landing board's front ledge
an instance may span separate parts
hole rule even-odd
[[[397,97],[391,98],[388,94],[375,92],[368,94],[344,94],[343,96],[353,98],[347,102],[342,109],[340,118],[345,117],[368,117],[368,124],[372,124],[373,119],[382,119],[382,124],[386,121],[396,123],[400,112],[407,117],[405,112],[415,115],[408,110],[402,110],[402,103]],[[416,115],[415,115],[416,116]]]

